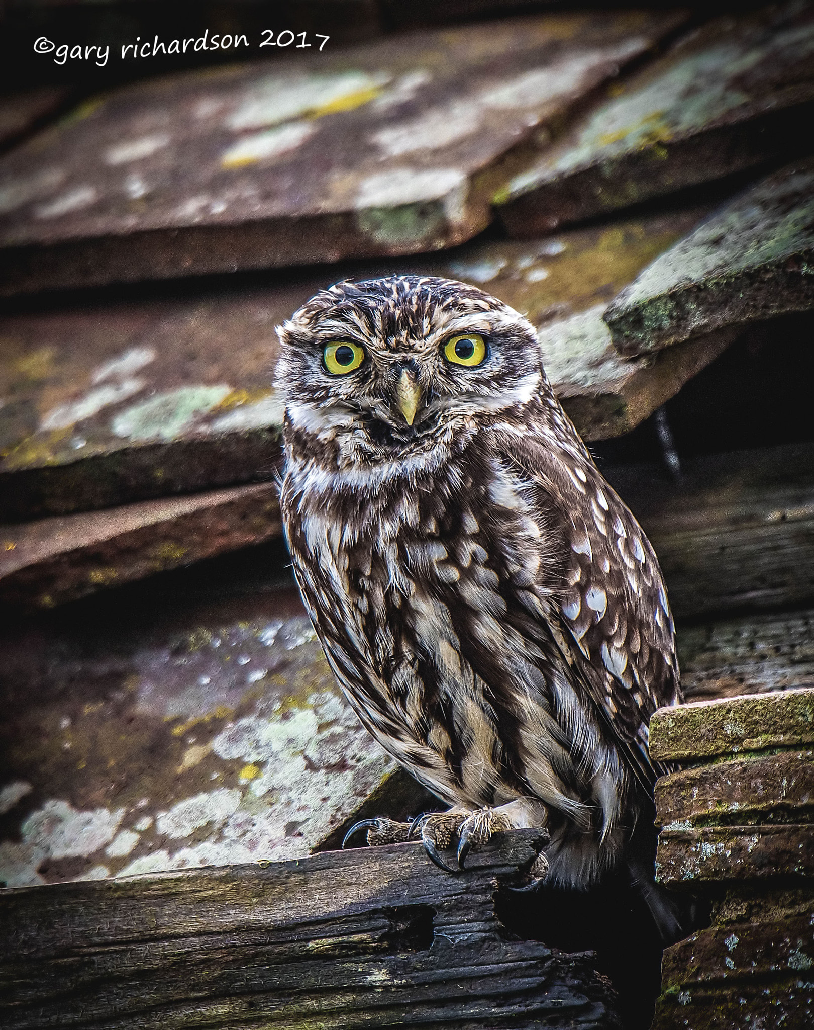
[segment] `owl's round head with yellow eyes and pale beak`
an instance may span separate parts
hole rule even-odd
[[[451,279],[339,282],[278,335],[286,432],[319,439],[340,468],[443,460],[547,388],[534,328]]]

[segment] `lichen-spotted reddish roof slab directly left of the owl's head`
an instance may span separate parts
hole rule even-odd
[[[316,285],[0,320],[0,519],[271,478],[274,327]]]

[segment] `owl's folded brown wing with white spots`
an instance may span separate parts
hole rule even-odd
[[[559,436],[559,434],[558,434]],[[560,537],[557,617],[569,661],[631,771],[649,784],[649,719],[680,701],[673,620],[659,562],[636,519],[574,434],[506,435],[498,446],[534,483],[539,519]]]

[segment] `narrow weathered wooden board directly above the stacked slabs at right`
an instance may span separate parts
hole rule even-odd
[[[814,687],[814,611],[682,625],[677,637],[688,701]]]

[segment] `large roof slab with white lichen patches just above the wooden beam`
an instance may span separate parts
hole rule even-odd
[[[3,612],[0,881],[296,859],[368,798],[432,810],[348,707],[284,562],[269,545]]]

